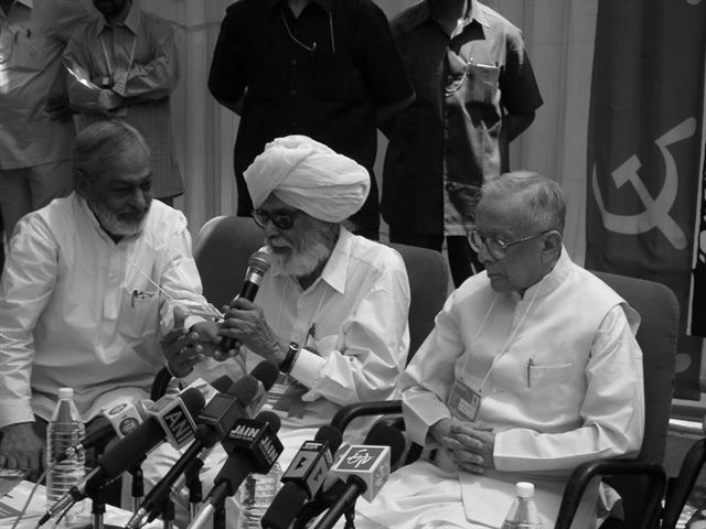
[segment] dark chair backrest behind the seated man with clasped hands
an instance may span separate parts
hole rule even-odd
[[[607,272],[595,273],[641,316],[637,338],[643,355],[645,425],[638,460],[661,465],[674,389],[678,302],[674,292],[663,284]],[[623,497],[625,527],[637,527],[631,526],[630,520],[639,519],[642,514],[645,482],[638,476],[614,476],[607,482]],[[631,498],[635,500],[631,501]]]

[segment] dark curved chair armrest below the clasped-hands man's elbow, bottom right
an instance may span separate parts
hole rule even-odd
[[[602,460],[590,461],[576,467],[564,490],[559,512],[554,529],[569,529],[584,492],[593,477],[614,475],[642,475],[649,479],[644,516],[640,528],[649,528],[656,516],[660,501],[666,488],[666,473],[662,465],[637,461]],[[639,528],[633,528],[639,529]]]

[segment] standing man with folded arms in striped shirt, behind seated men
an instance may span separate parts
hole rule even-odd
[[[86,125],[122,119],[152,152],[153,195],[168,205],[184,192],[172,139],[169,96],[179,78],[174,31],[138,0],[93,0],[100,12],[68,43],[71,105]]]

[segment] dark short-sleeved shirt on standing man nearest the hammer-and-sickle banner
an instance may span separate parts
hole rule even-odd
[[[395,116],[383,218],[421,234],[466,235],[480,186],[507,171],[507,114],[542,105],[521,31],[475,1],[449,36],[427,1],[391,22],[416,101]]]

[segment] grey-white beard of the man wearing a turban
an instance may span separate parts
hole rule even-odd
[[[339,235],[339,225],[310,219],[310,229],[303,230],[298,242],[291,242],[284,236],[270,237],[272,269],[295,278],[313,273],[331,256]]]

